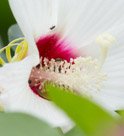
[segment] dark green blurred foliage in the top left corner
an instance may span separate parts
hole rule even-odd
[[[8,43],[8,28],[15,22],[8,0],[0,0],[0,35],[4,45]]]

